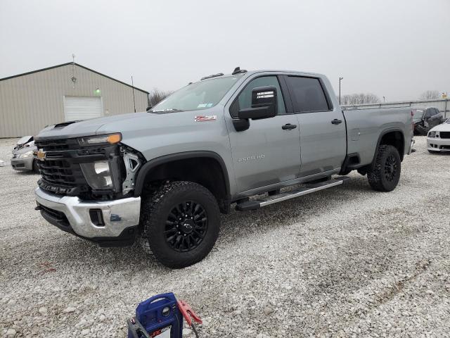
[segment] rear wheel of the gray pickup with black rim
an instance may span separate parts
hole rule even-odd
[[[378,192],[391,192],[397,187],[401,173],[399,151],[394,146],[381,144],[378,147],[373,170],[368,171],[367,179],[371,188]]]

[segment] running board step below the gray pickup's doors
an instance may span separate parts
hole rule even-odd
[[[295,197],[311,194],[311,192],[319,192],[319,190],[335,187],[336,185],[344,183],[344,181],[348,180],[349,178],[350,177],[347,176],[336,177],[325,182],[306,184],[300,189],[294,190],[292,192],[283,192],[281,194],[274,196],[267,196],[263,199],[259,199],[256,201],[245,201],[240,204],[236,204],[236,210],[237,211],[255,210],[262,208],[263,206],[269,206],[271,204],[286,201],[288,199],[295,199]]]

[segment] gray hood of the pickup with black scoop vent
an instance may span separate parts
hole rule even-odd
[[[46,126],[36,137],[34,137],[34,139],[60,139],[104,134],[105,132],[99,131],[101,129],[104,130],[104,128],[101,127],[110,125],[110,127],[114,129],[115,126],[119,127],[124,121],[138,119],[148,120],[154,115],[155,114],[151,113],[128,113],[108,116],[107,118],[92,118],[90,120],[58,123],[56,125]],[[114,132],[120,132],[120,130],[115,130]]]

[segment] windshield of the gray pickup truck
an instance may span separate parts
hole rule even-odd
[[[215,106],[239,77],[229,76],[188,84],[154,106],[150,112],[193,111]]]

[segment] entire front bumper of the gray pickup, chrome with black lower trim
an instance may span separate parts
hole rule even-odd
[[[61,230],[97,242],[102,246],[123,246],[134,242],[141,197],[113,201],[82,201],[75,196],[59,196],[37,188],[37,210]]]

